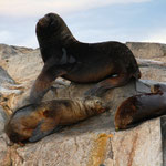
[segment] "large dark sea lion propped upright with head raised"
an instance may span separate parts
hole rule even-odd
[[[87,92],[90,95],[141,77],[137,62],[125,44],[79,42],[55,13],[41,18],[35,32],[44,66],[31,89],[31,103],[40,102],[58,76],[75,83],[101,81]]]

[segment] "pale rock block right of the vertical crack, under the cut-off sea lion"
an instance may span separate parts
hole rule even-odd
[[[117,133],[112,139],[113,163],[120,166],[162,166],[160,120]],[[153,157],[152,157],[153,156]]]

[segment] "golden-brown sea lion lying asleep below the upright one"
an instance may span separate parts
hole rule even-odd
[[[37,142],[71,125],[106,111],[97,98],[53,100],[30,104],[15,111],[4,131],[13,143]]]

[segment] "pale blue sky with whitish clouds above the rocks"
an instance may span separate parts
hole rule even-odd
[[[35,23],[48,12],[83,42],[166,43],[166,0],[0,0],[0,43],[38,48]]]

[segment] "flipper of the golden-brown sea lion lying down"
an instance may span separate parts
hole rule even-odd
[[[46,135],[60,131],[62,126],[56,126],[58,123],[59,122],[56,120],[42,120],[33,131],[32,136],[29,138],[29,142],[38,142]]]

